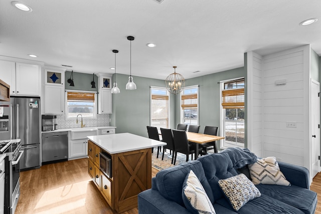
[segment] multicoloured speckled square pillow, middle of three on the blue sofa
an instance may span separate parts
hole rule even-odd
[[[247,201],[261,196],[261,192],[244,174],[219,180],[219,185],[236,211]]]

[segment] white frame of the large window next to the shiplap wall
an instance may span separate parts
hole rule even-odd
[[[221,149],[227,149],[229,147],[227,147],[225,145],[225,125],[224,125],[224,120],[225,120],[225,110],[223,109],[222,106],[222,91],[224,90],[224,84],[226,82],[230,82],[230,81],[235,81],[235,80],[239,80],[239,79],[245,79],[244,77],[239,77],[239,78],[233,78],[233,79],[228,79],[228,80],[221,80],[220,81],[220,136],[224,137],[224,139],[220,140],[220,148]],[[244,90],[245,90],[245,86],[244,86]],[[244,95],[245,96],[245,95]],[[244,107],[245,108],[245,107]],[[244,121],[245,122],[245,121]],[[245,145],[245,142],[244,142]],[[236,147],[236,146],[235,146]]]

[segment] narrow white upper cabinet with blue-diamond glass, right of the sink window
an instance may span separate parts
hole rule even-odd
[[[98,114],[112,113],[111,76],[97,74],[98,76]]]

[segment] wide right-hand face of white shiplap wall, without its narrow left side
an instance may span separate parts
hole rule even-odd
[[[291,49],[263,57],[263,154],[303,165],[303,50]],[[275,85],[286,80],[285,85]],[[296,122],[296,128],[286,122]]]

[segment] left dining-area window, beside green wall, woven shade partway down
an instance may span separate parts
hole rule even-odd
[[[170,99],[166,88],[150,87],[150,126],[170,127]]]

